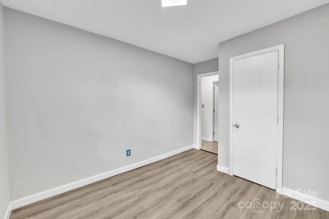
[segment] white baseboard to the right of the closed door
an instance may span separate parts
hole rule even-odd
[[[295,198],[298,201],[307,203],[307,204],[315,206],[317,208],[321,208],[323,210],[329,211],[329,202],[322,200],[316,196],[304,194],[302,192],[288,189],[285,187],[282,187],[282,191],[278,191],[278,193],[283,194],[288,197]]]

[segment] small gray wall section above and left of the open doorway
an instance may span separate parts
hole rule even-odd
[[[201,63],[196,63],[194,64],[194,86],[193,86],[193,95],[194,95],[194,145],[196,145],[197,143],[197,134],[196,134],[196,97],[197,97],[197,78],[196,75],[198,74],[203,74],[203,73],[208,73],[208,72],[214,72],[214,71],[218,71],[218,58],[213,58],[210,59],[208,61],[205,62],[201,62]]]

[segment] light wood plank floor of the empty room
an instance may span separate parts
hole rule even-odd
[[[216,165],[217,155],[192,149],[13,210],[10,218],[329,218],[321,209],[290,210],[296,200]],[[239,207],[255,200],[283,209]]]

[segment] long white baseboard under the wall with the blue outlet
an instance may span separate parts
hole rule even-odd
[[[53,188],[53,189],[49,189],[49,190],[39,192],[39,193],[36,193],[36,194],[33,194],[33,195],[29,195],[29,196],[20,198],[18,200],[11,201],[10,204],[9,204],[10,208],[8,207],[8,209],[11,211],[13,209],[20,208],[20,207],[23,207],[25,205],[32,204],[34,202],[44,200],[45,198],[52,197],[54,195],[58,195],[58,194],[61,194],[63,192],[67,192],[67,191],[70,191],[70,190],[73,190],[73,189],[77,189],[77,188],[80,188],[82,186],[86,186],[88,184],[92,184],[92,183],[95,183],[95,182],[98,182],[98,181],[101,181],[101,180],[105,180],[105,178],[109,178],[109,177],[112,177],[112,176],[130,171],[130,170],[133,170],[133,169],[136,169],[136,168],[139,168],[139,167],[142,167],[142,166],[160,161],[160,160],[165,159],[167,157],[176,155],[178,153],[181,153],[181,152],[193,149],[193,148],[194,148],[194,145],[190,145],[190,146],[187,146],[185,148],[180,148],[178,150],[171,151],[169,153],[165,153],[165,154],[150,158],[150,159],[145,160],[145,161],[141,161],[141,162],[138,162],[138,163],[135,163],[135,164],[131,164],[131,165],[128,165],[128,166],[125,166],[125,167],[121,167],[121,168],[118,168],[118,169],[115,169],[115,170],[111,170],[111,171],[108,171],[108,172],[105,172],[105,173],[101,173],[99,175],[88,177],[88,178],[85,178],[83,180],[79,180],[79,181],[76,181],[76,182],[73,182],[73,183],[69,183],[69,184],[66,184],[66,185],[63,185],[63,186],[60,186],[60,187],[57,187],[57,188]],[[10,215],[10,213],[9,213],[9,215]],[[8,215],[8,218],[9,218],[9,215]],[[5,218],[5,219],[7,219],[7,218]]]

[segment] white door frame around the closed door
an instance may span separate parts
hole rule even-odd
[[[282,191],[282,161],[283,161],[283,113],[284,113],[284,44],[246,53],[230,58],[230,162],[229,174],[233,175],[233,96],[234,96],[234,61],[239,59],[278,51],[278,132],[277,132],[277,182],[276,191]]]

